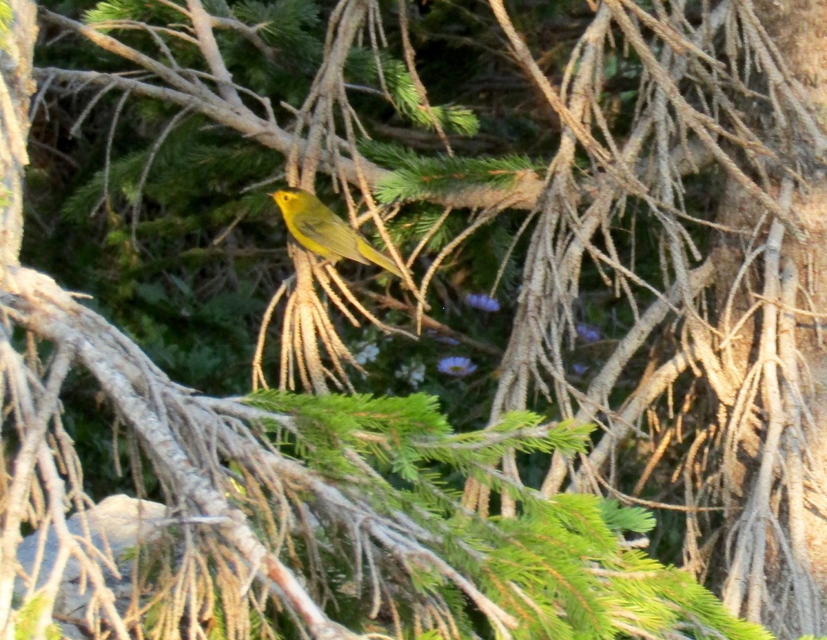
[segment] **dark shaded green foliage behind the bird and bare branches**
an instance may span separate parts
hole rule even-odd
[[[371,136],[362,139],[360,150],[393,170],[376,187],[385,203],[450,192],[462,184],[507,185],[524,172],[540,174],[543,158],[551,155],[557,142],[553,122],[550,127],[547,114],[533,105],[517,70],[507,60],[486,54],[486,47],[499,38],[493,19],[474,2],[436,2],[429,7],[422,16],[412,14],[411,28],[430,103],[459,98],[469,107],[448,103],[423,111],[410,74],[390,55],[380,60],[382,73],[377,74],[370,50],[356,49],[347,69],[353,83],[351,99]],[[174,19],[169,7],[139,0],[55,8],[93,23],[144,20],[160,25]],[[553,4],[540,8],[528,2],[518,13],[521,24],[536,29],[526,35],[555,51],[555,60],[563,59],[574,35],[574,31],[567,38],[553,35],[555,26],[579,19],[563,13],[566,8]],[[300,107],[322,55],[323,17],[329,7],[286,0],[240,2],[232,7],[213,2],[210,9],[263,24],[262,39],[278,52],[275,60],[269,60],[236,33],[219,31],[235,81],[268,96],[277,119],[284,108]],[[142,31],[123,36],[154,51],[151,37]],[[393,41],[398,34],[390,31],[387,36]],[[550,37],[554,41],[548,41]],[[69,37],[42,47],[38,62],[48,66],[60,61],[61,66],[80,69],[123,66],[115,56],[101,52],[94,55],[103,60],[93,62],[90,46],[79,44]],[[171,39],[168,45],[178,64],[196,64],[188,43]],[[633,96],[620,88],[628,86],[631,69],[628,63],[613,64],[619,80],[626,79],[618,83],[619,104],[630,105]],[[453,80],[447,83],[447,78]],[[383,84],[391,103],[381,94]],[[93,97],[96,101],[89,109]],[[213,127],[201,116],[176,115],[170,107],[139,96],[90,89],[48,99],[35,111],[39,142],[29,173],[33,223],[26,234],[26,260],[56,274],[69,289],[92,294],[91,303],[134,337],[174,380],[208,393],[243,392],[249,386],[261,314],[270,294],[293,268],[284,226],[266,195],[284,184],[284,157]],[[621,108],[619,122],[622,113]],[[450,136],[453,155],[440,150],[440,136],[429,118],[440,122]],[[342,213],[341,195],[331,186],[322,179],[318,193]],[[55,209],[60,216],[45,215]],[[421,274],[475,221],[475,215],[455,210],[443,222],[442,207],[412,202],[388,223],[388,230],[404,254],[427,241],[413,265],[414,272]],[[498,356],[518,294],[524,251],[524,238],[518,233],[525,230],[525,217],[525,213],[506,213],[482,223],[447,256],[428,292],[429,314],[452,333],[426,327],[418,341],[410,341],[373,327],[337,322],[357,361],[369,365],[358,389],[434,394],[454,412],[457,427],[485,424]],[[437,221],[441,226],[435,229]],[[638,234],[638,251],[640,246],[645,250],[650,240]],[[371,284],[375,270],[339,266],[386,322],[413,327],[414,308],[394,303],[382,293],[383,283],[394,294],[397,284],[379,276],[377,287]],[[657,263],[652,269],[655,278]],[[600,275],[595,271],[586,275],[589,278],[598,284]],[[481,293],[496,301],[493,308],[485,304],[480,308],[474,298],[469,303],[469,296]],[[277,309],[270,332],[276,339],[265,352],[265,371],[274,379],[281,310]],[[575,378],[586,383],[630,318],[627,308],[616,307],[602,293],[592,297],[584,292],[580,339],[572,344],[569,364]],[[440,362],[448,356],[467,358],[473,372],[466,377],[442,373]],[[554,408],[548,410],[553,417]]]

